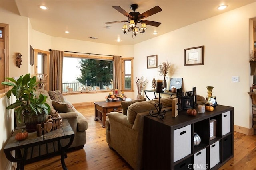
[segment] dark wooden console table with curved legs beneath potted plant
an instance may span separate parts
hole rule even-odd
[[[15,135],[21,131],[18,127],[12,133],[12,136],[6,141],[6,146],[4,147],[4,153],[6,158],[11,162],[17,162],[17,169],[24,170],[24,164],[28,154],[28,148],[45,145],[46,143],[51,143],[54,141],[58,142],[58,150],[61,154],[61,165],[64,170],[67,170],[65,164],[65,157],[67,157],[65,150],[70,147],[74,139],[74,131],[70,127],[68,120],[63,120],[62,127],[55,131],[46,133],[40,137],[36,135],[36,132],[28,133],[28,137],[22,141],[17,141]],[[61,139],[70,139],[66,146],[62,146],[60,143]],[[15,151],[15,157],[12,156],[11,152]],[[24,151],[24,152],[23,152]],[[23,154],[22,154],[23,152]],[[39,155],[40,157],[40,155]]]

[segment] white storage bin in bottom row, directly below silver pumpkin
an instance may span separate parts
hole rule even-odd
[[[206,148],[194,154],[193,167],[194,170],[206,170],[208,168],[206,164]]]

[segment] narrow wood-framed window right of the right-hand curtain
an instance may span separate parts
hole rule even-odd
[[[122,60],[122,90],[133,90],[133,58]]]

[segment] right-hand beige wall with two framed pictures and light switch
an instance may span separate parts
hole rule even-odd
[[[213,86],[218,104],[234,106],[234,124],[251,128],[249,18],[256,16],[255,7],[256,3],[250,4],[134,45],[134,76],[162,80],[158,69],[145,67],[146,56],[157,54],[158,63],[168,60],[177,66],[172,77],[183,78],[185,91],[196,86],[197,94],[206,96],[206,86]],[[201,45],[204,65],[184,66],[184,49]],[[240,82],[231,82],[232,76],[239,76]]]

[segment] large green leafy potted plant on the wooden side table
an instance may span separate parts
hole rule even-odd
[[[2,85],[13,86],[7,92],[7,98],[10,98],[11,94],[16,97],[16,102],[10,104],[6,109],[14,109],[16,113],[16,119],[19,123],[22,123],[21,115],[23,115],[23,121],[26,125],[28,132],[36,131],[36,125],[46,120],[46,115],[50,112],[50,106],[45,103],[47,96],[40,94],[36,96],[36,76],[30,77],[30,74],[20,76],[18,80],[13,78],[6,78],[10,82],[2,82]]]

